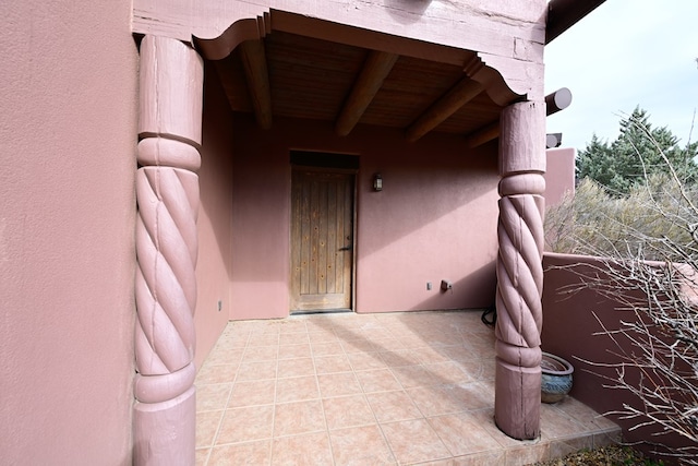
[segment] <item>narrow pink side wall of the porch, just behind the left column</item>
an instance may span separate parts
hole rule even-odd
[[[215,69],[210,63],[206,63],[204,72],[202,164],[198,171],[198,292],[194,314],[197,368],[201,368],[228,322],[232,264],[232,117]]]

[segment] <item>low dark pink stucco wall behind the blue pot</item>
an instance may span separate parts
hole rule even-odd
[[[593,268],[592,268],[593,267]],[[575,367],[574,386],[570,395],[600,414],[623,409],[624,404],[641,406],[637,397],[626,390],[606,389],[616,378],[621,362],[618,347],[606,335],[594,335],[606,330],[621,328],[621,321],[635,320],[633,311],[618,310],[619,304],[599,292],[586,288],[566,292],[582,283],[583,276],[595,276],[603,264],[599,258],[546,253],[543,258],[543,331],[542,348],[567,359]],[[627,338],[616,335],[624,350],[633,347]],[[610,378],[610,379],[609,379]],[[626,380],[638,382],[638,372],[626,369]],[[624,440],[629,442],[660,441],[673,447],[686,445],[678,435],[652,437],[654,427],[634,430],[638,419],[622,419],[610,415],[610,419],[623,428]],[[646,452],[648,446],[640,445]]]

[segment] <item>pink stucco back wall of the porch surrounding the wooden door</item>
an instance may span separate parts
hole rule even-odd
[[[398,130],[276,119],[234,120],[231,319],[288,315],[289,150],[360,156],[358,312],[477,308],[494,301],[496,143],[469,152],[457,135],[416,144]],[[384,190],[373,192],[381,172]],[[454,284],[442,292],[442,279]],[[433,288],[426,290],[426,283]]]

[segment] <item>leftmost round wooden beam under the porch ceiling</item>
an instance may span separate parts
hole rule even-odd
[[[268,130],[272,128],[272,92],[262,39],[240,44],[240,58],[248,80],[254,117],[262,129]]]

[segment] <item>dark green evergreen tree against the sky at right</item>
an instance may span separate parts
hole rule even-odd
[[[579,152],[577,174],[605,187],[615,195],[626,195],[648,176],[666,172],[669,159],[684,182],[698,179],[698,143],[686,147],[666,128],[652,128],[647,111],[636,107],[633,113],[621,120],[618,138],[609,144],[595,134],[587,147]]]

